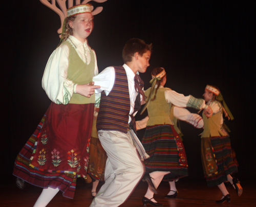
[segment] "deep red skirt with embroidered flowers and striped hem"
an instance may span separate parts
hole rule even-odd
[[[13,175],[73,198],[76,178],[88,168],[94,104],[51,103],[16,157]]]

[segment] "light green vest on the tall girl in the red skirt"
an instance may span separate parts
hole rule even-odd
[[[95,68],[95,56],[91,49],[91,62],[89,65],[84,63],[79,55],[77,54],[75,48],[71,45],[69,41],[65,41],[62,44],[66,44],[69,47],[69,67],[68,67],[68,77],[75,84],[86,84],[93,80],[94,68]],[[71,104],[89,104],[95,102],[95,94],[90,98],[86,98],[80,94],[73,94],[69,103]]]

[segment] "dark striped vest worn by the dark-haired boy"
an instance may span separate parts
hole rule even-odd
[[[101,92],[97,130],[120,131],[127,133],[130,113],[130,95],[127,75],[123,66],[114,66],[115,83],[109,95]],[[141,88],[143,84],[141,84]],[[132,122],[136,129],[134,117]]]

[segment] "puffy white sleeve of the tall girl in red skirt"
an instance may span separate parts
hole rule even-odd
[[[67,79],[69,48],[61,45],[51,54],[42,77],[42,88],[56,104],[68,104],[75,84]]]

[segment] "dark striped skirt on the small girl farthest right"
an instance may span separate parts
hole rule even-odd
[[[215,136],[215,137],[203,137],[201,144],[205,143],[204,140],[210,140],[212,153],[216,162],[216,173],[207,174],[210,165],[210,154],[206,149],[201,149],[202,163],[204,174],[206,177],[207,186],[217,186],[227,180],[227,175],[236,173],[238,171],[237,165],[233,162],[230,139],[228,136]]]

